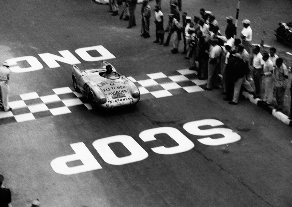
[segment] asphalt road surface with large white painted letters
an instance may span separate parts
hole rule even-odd
[[[0,114],[0,173],[12,205],[292,206],[291,127],[249,101],[230,106],[221,90],[204,91],[183,55],[152,43],[154,13],[151,38],[140,37],[140,6],[137,27],[126,29],[88,0],[1,1],[1,61],[20,66],[9,83],[13,112]],[[236,6],[183,0],[183,11],[211,10],[221,28]],[[253,43],[265,29],[265,44],[292,52],[273,34],[291,21],[291,7],[242,0],[239,20],[251,20]],[[167,1],[162,8],[166,16]],[[62,55],[69,63],[52,60]],[[102,113],[79,104],[70,63],[95,67],[97,57],[145,84],[137,106]]]

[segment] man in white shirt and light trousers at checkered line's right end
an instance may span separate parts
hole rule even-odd
[[[209,52],[208,63],[208,81],[205,90],[211,91],[212,85],[215,89],[219,89],[218,86],[218,71],[220,67],[220,57],[222,55],[222,48],[218,45],[218,40],[214,39],[211,42],[212,46]]]

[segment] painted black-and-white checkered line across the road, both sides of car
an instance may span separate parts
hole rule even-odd
[[[181,69],[128,77],[139,88],[141,101],[168,97],[182,93],[204,91],[195,71]],[[9,97],[12,111],[0,111],[0,124],[35,120],[46,116],[72,113],[75,110],[91,110],[88,99],[71,87],[54,88],[43,92],[31,92]]]

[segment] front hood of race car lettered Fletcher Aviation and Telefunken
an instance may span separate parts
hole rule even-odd
[[[121,77],[116,80],[102,81],[96,85],[107,96],[107,103],[110,104],[112,108],[119,108],[129,106],[133,100],[129,95],[127,82],[127,79]]]

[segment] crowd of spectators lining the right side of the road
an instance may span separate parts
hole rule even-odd
[[[109,12],[117,15],[114,6],[117,0],[110,1],[114,3],[110,3]],[[133,7],[130,5],[136,5],[136,3],[137,0],[123,0],[122,15],[126,14],[124,20],[129,19],[127,28],[136,25],[136,6],[132,9],[132,13],[129,12],[129,9]],[[170,12],[166,27],[164,27],[161,0],[156,0],[154,6],[156,39],[153,42],[168,46],[172,41],[171,52],[177,54],[180,41],[183,40],[184,47],[181,53],[185,54],[185,59],[190,61],[189,69],[195,71],[198,79],[207,80],[205,90],[222,88],[222,94],[226,96],[223,99],[232,105],[237,105],[242,89],[253,94],[254,98],[261,98],[267,105],[272,105],[275,94],[274,108],[277,111],[283,110],[289,69],[283,63],[283,59],[275,54],[275,48],[270,48],[270,53],[262,54],[258,45],[251,44],[252,29],[249,20],[242,21],[243,29],[240,34],[237,34],[234,19],[232,16],[228,16],[223,33],[211,11],[201,8],[200,16],[192,18],[186,12],[182,12],[180,15],[181,0],[170,0],[169,6]],[[127,17],[128,13],[129,17]],[[151,8],[148,0],[142,1],[141,14],[141,36],[149,38]],[[164,42],[165,33],[168,34]],[[236,38],[237,36],[240,38]],[[263,89],[261,89],[262,81],[264,82]],[[265,91],[264,95],[260,93],[262,90]],[[290,113],[292,113],[292,108]],[[291,119],[291,117],[292,115],[289,118]]]

